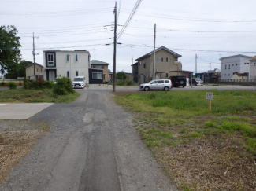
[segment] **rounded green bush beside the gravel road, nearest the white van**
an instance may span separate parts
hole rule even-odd
[[[62,77],[56,79],[57,83],[54,86],[54,95],[67,95],[74,93],[72,83],[69,78]]]

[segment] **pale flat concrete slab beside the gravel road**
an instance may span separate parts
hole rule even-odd
[[[48,108],[52,103],[35,104],[1,104],[0,119],[28,119],[43,109]]]

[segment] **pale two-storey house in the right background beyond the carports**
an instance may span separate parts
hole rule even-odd
[[[235,73],[246,73],[250,76],[250,57],[238,54],[221,57],[221,79],[232,79]]]

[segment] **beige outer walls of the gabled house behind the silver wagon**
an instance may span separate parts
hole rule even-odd
[[[156,62],[155,62],[155,72],[166,72],[170,70],[182,70],[182,64],[174,64],[174,62],[178,61],[176,57],[173,56],[172,53],[169,53],[166,50],[158,50],[155,53]],[[163,61],[161,61],[163,58]],[[166,61],[168,58],[168,61]],[[138,66],[138,82],[141,83],[142,74],[145,75],[145,83],[150,82],[153,79],[153,61],[154,61],[154,54],[150,55],[140,61],[141,64]],[[143,64],[146,64],[146,68],[144,68]],[[169,79],[169,76],[176,75],[175,73],[168,73],[168,77],[166,77],[166,73],[158,74],[158,78],[160,79]]]

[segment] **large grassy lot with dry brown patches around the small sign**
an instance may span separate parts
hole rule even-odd
[[[115,100],[137,113],[142,139],[181,190],[253,190],[247,180],[256,180],[255,98],[213,90],[211,112],[206,90],[122,93]]]

